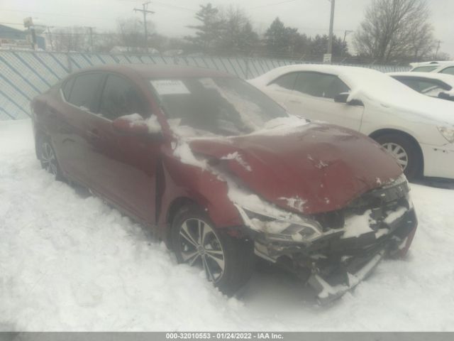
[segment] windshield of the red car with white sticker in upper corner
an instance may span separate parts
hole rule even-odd
[[[189,126],[198,134],[249,134],[267,121],[288,117],[272,99],[233,77],[150,80],[170,126]]]

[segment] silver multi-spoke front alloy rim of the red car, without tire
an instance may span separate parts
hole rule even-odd
[[[179,229],[179,247],[184,263],[203,267],[209,281],[219,281],[226,262],[221,242],[209,224],[199,219],[184,221]]]

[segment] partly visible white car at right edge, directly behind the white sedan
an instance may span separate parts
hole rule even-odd
[[[388,75],[426,96],[454,101],[454,75],[433,72],[390,72]]]

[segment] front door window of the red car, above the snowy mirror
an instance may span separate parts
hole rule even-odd
[[[99,113],[106,119],[114,120],[128,114],[145,113],[145,102],[132,82],[117,75],[109,75],[101,96]]]

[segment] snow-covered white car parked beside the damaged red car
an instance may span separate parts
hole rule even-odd
[[[452,102],[362,67],[290,65],[250,83],[291,114],[370,136],[394,155],[410,179],[454,178]]]

